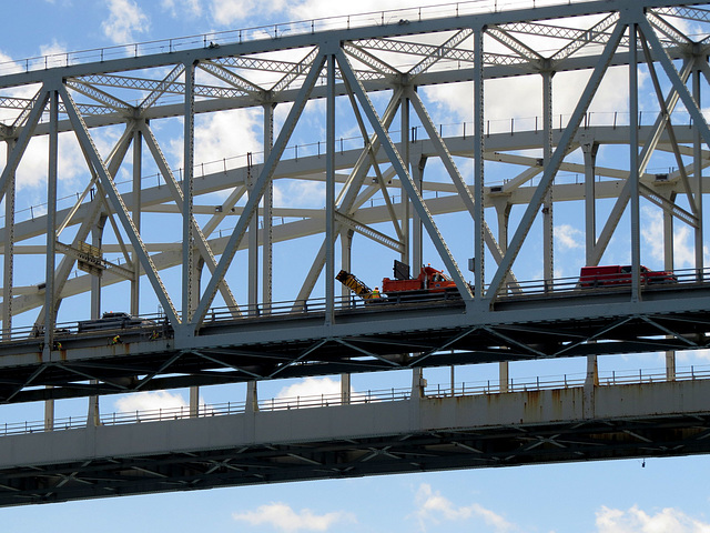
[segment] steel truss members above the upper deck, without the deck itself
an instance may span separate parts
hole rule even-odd
[[[313,257],[300,258],[311,266],[303,279],[287,281],[290,289],[295,288],[288,294],[294,309],[310,298],[325,298],[325,326],[335,320],[333,278],[339,268],[351,266],[354,234],[412,264],[425,260],[422,241],[430,243],[436,261],[456,281],[466,311],[495,312],[500,298],[520,293],[519,280],[534,275],[519,254],[534,239],[531,229],[539,221],[546,243],[542,276],[552,283],[555,224],[565,223],[552,212],[575,201],[585,205],[588,264],[602,262],[612,237],[628,241],[633,301],[642,289],[641,199],[660,209],[668,224],[677,221],[691,228],[693,269],[701,276],[707,190],[701,170],[708,164],[710,142],[700,102],[710,80],[706,38],[710,27],[702,3],[610,0],[486,13],[460,7],[453,17],[422,17],[420,11],[412,17],[405,11],[399,18],[387,13],[390,22],[376,26],[351,27],[348,19],[348,26],[327,31],[316,31],[312,24],[312,31],[283,36],[276,28],[274,36],[262,39],[205,36],[200,48],[143,54],[136,44],[136,53],[129,58],[94,62],[71,61],[68,56],[62,64],[47,69],[26,62],[19,71],[0,72],[0,109],[7,117],[1,131],[8,145],[0,175],[6,205],[1,315],[6,334],[13,316],[34,310],[30,321],[51,346],[64,300],[81,294],[100,299],[102,288],[126,283],[131,309],[140,310],[138,286],[146,279],[175,338],[191,339],[199,335],[214,306],[242,314],[245,302],[232,286],[234,271],[246,271],[248,306],[267,309],[273,286],[285,283],[273,280],[272,248],[312,235],[320,235],[322,245]],[[687,20],[704,33],[687,34]],[[45,64],[53,64],[53,59],[45,59]],[[591,124],[590,104],[616,67],[626,69],[630,80],[623,88],[629,119],[617,123],[615,115],[613,124]],[[552,77],[579,70],[588,78],[574,112],[556,123]],[[657,101],[652,125],[639,123],[639,72],[652,82]],[[491,133],[487,83],[516,83],[521,78],[538,79],[545,88],[540,123],[516,129],[511,121],[509,132]],[[474,124],[468,131],[464,124],[463,134],[448,135],[437,128],[430,112],[433,97],[422,97],[427,88],[449,83],[469,88]],[[39,88],[33,98],[13,95],[24,86]],[[325,100],[318,119],[325,139],[294,139],[294,132],[307,128],[303,124],[312,120],[312,102],[318,100]],[[383,100],[386,107],[381,105]],[[274,108],[284,103],[287,115],[274,128]],[[253,153],[235,149],[224,154],[222,169],[212,165],[205,171],[205,162],[195,160],[195,120],[232,110],[263,113],[262,153],[254,162]],[[344,148],[341,113],[348,117],[348,128],[356,124],[359,147]],[[164,152],[174,139],[160,139],[161,121],[174,118],[182,118],[183,124],[178,171]],[[101,153],[97,135],[119,128],[113,148]],[[85,180],[72,207],[61,208],[55,195],[64,144],[59,139],[70,132],[85,160]],[[41,215],[23,219],[17,212],[17,173],[29,157],[30,141],[40,135],[50,139],[47,208]],[[311,147],[311,153],[300,155],[301,143],[317,145],[317,153]],[[627,147],[626,159],[615,167],[597,167],[598,148],[613,145]],[[636,145],[640,151],[629,148]],[[243,159],[227,164],[232,157]],[[655,157],[673,162],[662,179],[647,170]],[[434,160],[444,170],[428,180],[427,162]],[[467,180],[460,168],[471,161],[473,180]],[[488,175],[494,163],[509,169],[510,178],[503,184]],[[158,170],[150,187],[141,179],[148,167]],[[128,168],[134,175],[131,187],[119,181]],[[560,172],[582,174],[581,190],[556,181]],[[323,188],[324,209],[274,204],[274,187],[281,180]],[[400,194],[398,201],[393,200],[395,194]],[[597,234],[601,222],[597,202],[602,200],[613,205]],[[516,205],[525,208],[509,227]],[[466,213],[474,229],[465,257],[450,249],[439,230],[445,213]],[[180,238],[149,231],[149,215],[164,220],[159,224],[165,228],[180,227]],[[619,230],[623,217],[630,218],[630,231]],[[113,235],[102,239],[106,221]],[[94,261],[98,270],[72,278],[78,262],[87,259],[81,243],[91,234],[103,241],[101,254],[124,263],[101,257]],[[670,235],[667,240],[666,266],[672,268]],[[341,257],[335,253],[338,243]],[[241,250],[248,257],[246,268],[235,259]],[[22,255],[42,257],[44,275],[16,282],[13,258]],[[468,259],[475,264],[473,284],[460,268]],[[176,289],[163,279],[175,268],[181,272]],[[98,312],[97,306],[92,314]],[[82,318],[87,316],[75,316]]]

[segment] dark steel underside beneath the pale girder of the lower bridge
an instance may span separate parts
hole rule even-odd
[[[710,452],[708,434],[710,412],[87,457],[1,470],[0,506],[389,473],[690,455]]]

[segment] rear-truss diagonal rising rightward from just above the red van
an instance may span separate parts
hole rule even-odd
[[[680,73],[680,78],[681,80],[683,80],[683,83],[690,77],[693,64],[694,64],[693,61],[690,61],[690,60],[684,61],[683,68]],[[656,122],[653,123],[653,128],[651,129],[651,132],[649,134],[649,138],[647,142],[643,144],[643,148],[641,149],[641,153],[639,154],[639,174],[643,174],[643,172],[646,172],[646,168],[648,167],[651,155],[653,154],[653,151],[658,147],[658,143],[661,139],[661,134],[663,133],[663,129],[666,128],[666,122],[670,117],[670,113],[672,113],[673,110],[676,109],[679,98],[680,95],[678,91],[676,89],[671,89],[665,102],[667,113],[658,115],[658,118],[656,119]],[[595,250],[591,258],[592,260],[589,266],[599,264],[599,261],[601,260],[601,255],[604,255],[604,252],[606,251],[607,245],[611,240],[611,235],[613,234],[616,227],[619,223],[619,220],[621,220],[621,215],[623,214],[623,211],[626,210],[626,205],[630,198],[631,198],[631,182],[627,180],[621,191],[619,191],[619,197],[617,198],[617,201],[613,204],[611,212],[609,213],[607,222],[604,229],[601,230],[601,233],[599,234],[599,239],[597,240],[597,244],[595,245]]]

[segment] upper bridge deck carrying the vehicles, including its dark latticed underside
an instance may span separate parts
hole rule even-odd
[[[69,334],[44,360],[37,339],[0,344],[4,403],[338,373],[496,361],[700,350],[710,343],[710,286],[628,288],[511,296],[495,309],[463,301],[206,322],[197,336],[136,329]],[[132,335],[132,336],[131,336]],[[89,382],[88,380],[91,380]],[[51,385],[51,386],[48,386]]]

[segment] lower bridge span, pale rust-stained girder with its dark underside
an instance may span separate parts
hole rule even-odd
[[[708,453],[708,380],[569,388],[2,436],[0,506]]]

